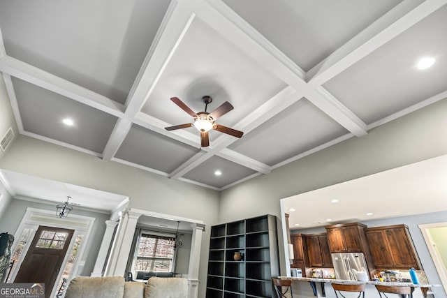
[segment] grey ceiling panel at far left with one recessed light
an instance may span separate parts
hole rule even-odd
[[[13,85],[24,133],[97,153],[104,150],[117,117],[19,79]],[[66,126],[64,119],[71,119],[73,126]]]

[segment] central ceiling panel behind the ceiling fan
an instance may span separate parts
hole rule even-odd
[[[229,101],[235,108],[217,123],[233,126],[254,106],[262,105],[286,84],[195,17],[163,70],[142,112],[170,125],[193,119],[170,101],[180,98],[194,112],[205,110],[203,96],[211,96],[211,112]]]

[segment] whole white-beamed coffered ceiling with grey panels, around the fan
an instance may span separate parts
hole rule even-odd
[[[0,71],[21,134],[222,190],[447,98],[446,3],[0,0]]]

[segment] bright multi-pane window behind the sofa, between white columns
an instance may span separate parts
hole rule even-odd
[[[142,231],[136,247],[133,271],[174,271],[175,235]]]

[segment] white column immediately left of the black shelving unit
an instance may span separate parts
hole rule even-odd
[[[198,269],[200,265],[200,248],[202,246],[202,234],[205,225],[200,223],[193,224],[193,235],[191,239],[191,253],[189,254],[188,269],[188,298],[198,297]]]

